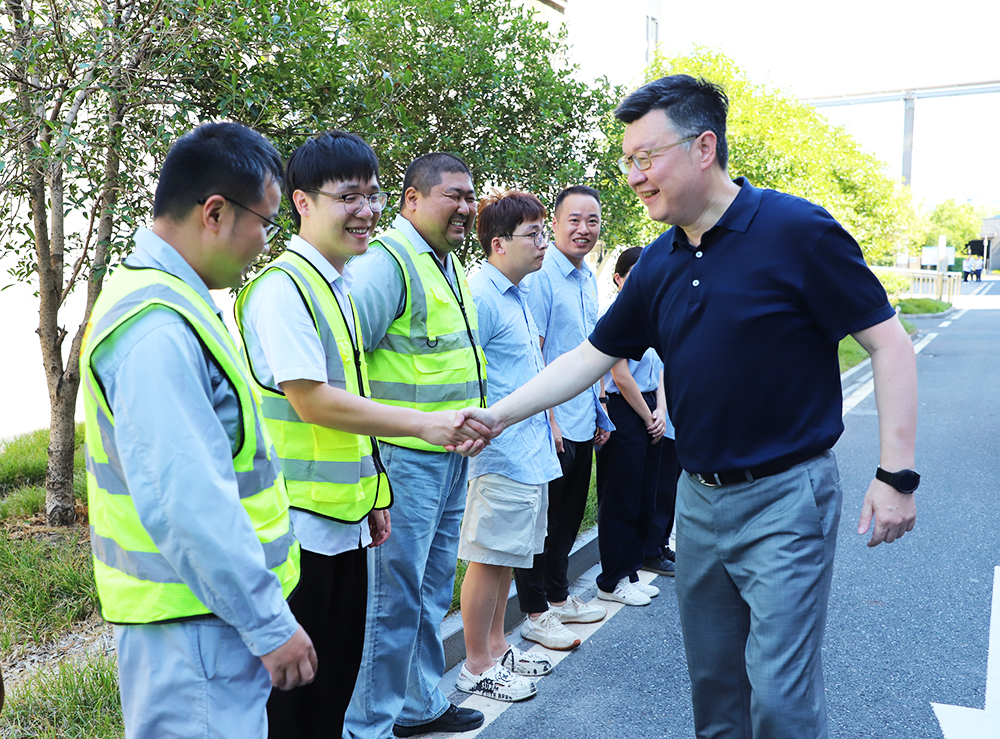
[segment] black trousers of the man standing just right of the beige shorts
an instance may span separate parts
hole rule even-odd
[[[531,569],[514,569],[517,598],[524,613],[547,611],[549,601],[564,601],[569,595],[569,553],[587,507],[593,462],[593,439],[563,439],[563,451],[559,452],[563,476],[549,483],[545,551],[535,555]]]

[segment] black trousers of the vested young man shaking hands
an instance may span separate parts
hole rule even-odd
[[[288,605],[312,639],[319,669],[309,685],[271,691],[268,739],[339,739],[365,643],[368,551],[328,557],[303,549],[299,587]]]

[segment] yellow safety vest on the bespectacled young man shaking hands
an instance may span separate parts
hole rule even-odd
[[[286,250],[254,278],[236,299],[236,319],[244,333],[243,311],[250,293],[270,270],[288,275],[312,316],[326,352],[327,382],[354,395],[367,397],[368,371],[359,340],[351,336],[347,319],[330,283],[302,255]],[[348,298],[350,299],[350,298]],[[357,311],[351,301],[354,336],[361,336]],[[357,523],[373,508],[392,505],[392,490],[378,445],[369,436],[306,423],[277,387],[264,385],[244,353],[262,396],[261,409],[274,439],[292,508],[344,523]]]

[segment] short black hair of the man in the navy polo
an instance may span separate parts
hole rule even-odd
[[[715,159],[723,170],[729,165],[726,143],[729,98],[721,85],[687,74],[660,77],[626,96],[615,108],[615,117],[623,123],[632,123],[651,110],[666,113],[682,139],[699,136],[705,131],[714,133]]]

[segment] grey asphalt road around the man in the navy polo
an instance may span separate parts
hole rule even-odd
[[[990,693],[997,713],[982,711],[1000,566],[1000,281],[979,289],[958,303],[965,310],[913,319],[918,346],[923,342],[917,356],[922,480],[917,526],[895,544],[869,549],[856,532],[878,464],[874,396],[864,396],[844,418],[835,448],[844,511],[823,650],[830,732],[838,739],[1000,737],[1000,684]],[[846,396],[863,386],[864,375],[864,368],[855,373],[858,382]],[[595,595],[595,574],[576,584],[587,599]],[[650,606],[622,608],[587,630],[593,633],[560,655],[535,698],[507,705],[455,693],[455,702],[488,713],[481,730],[461,736],[694,737],[673,581],[653,583],[661,594]],[[1000,682],[1000,654],[993,671]],[[969,721],[945,735],[932,703],[979,710],[965,711]]]

